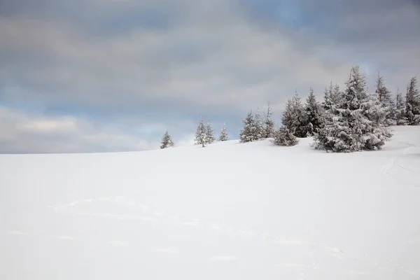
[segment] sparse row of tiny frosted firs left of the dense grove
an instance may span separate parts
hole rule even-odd
[[[218,141],[228,141],[228,133],[226,132],[226,125],[223,124],[223,128],[219,134]],[[214,136],[214,130],[211,125],[211,121],[209,120],[206,125],[204,125],[204,121],[201,118],[198,122],[197,131],[195,132],[194,137],[194,144],[195,145],[202,145],[204,147],[206,144],[211,144],[216,141],[216,137]],[[165,132],[165,135],[162,138],[160,148],[171,148],[174,147],[174,141],[172,141],[172,137],[169,136],[168,131]]]

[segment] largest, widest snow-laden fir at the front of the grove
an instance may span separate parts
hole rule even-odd
[[[314,134],[314,148],[332,152],[377,150],[392,137],[385,127],[386,109],[366,91],[358,65],[351,68],[342,100],[332,104],[325,126]]]

